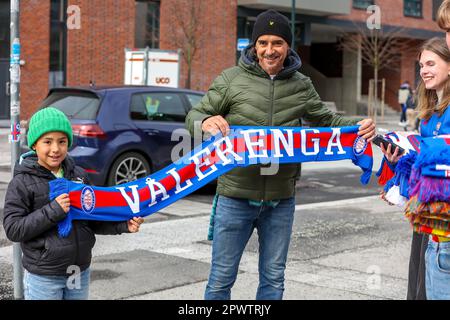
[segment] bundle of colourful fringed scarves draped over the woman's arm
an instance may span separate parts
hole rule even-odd
[[[450,239],[450,136],[421,138],[420,148],[410,150],[387,181],[385,198],[405,206],[413,230]],[[409,199],[409,200],[408,200]]]

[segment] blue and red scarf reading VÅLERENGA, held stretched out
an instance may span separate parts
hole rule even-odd
[[[372,146],[357,135],[358,126],[230,129],[230,135],[213,136],[175,163],[136,181],[96,187],[52,180],[50,200],[68,193],[71,203],[67,217],[58,224],[59,234],[70,233],[72,220],[126,221],[148,216],[236,167],[350,159],[363,170],[361,182],[369,182]]]

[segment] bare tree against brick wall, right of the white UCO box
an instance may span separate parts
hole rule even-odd
[[[202,5],[199,0],[177,0],[173,2],[172,14],[176,26],[173,43],[182,50],[187,65],[185,87],[190,89],[192,63],[206,36],[205,30],[200,31]]]

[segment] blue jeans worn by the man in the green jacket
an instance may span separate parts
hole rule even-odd
[[[258,231],[258,300],[281,300],[284,270],[294,220],[295,199],[270,206],[253,206],[246,199],[219,196],[214,217],[211,272],[205,291],[207,300],[227,300],[236,280],[245,246]]]

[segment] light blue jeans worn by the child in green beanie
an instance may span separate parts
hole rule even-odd
[[[25,270],[24,298],[25,300],[87,300],[89,281],[89,268],[72,276],[42,276]]]

